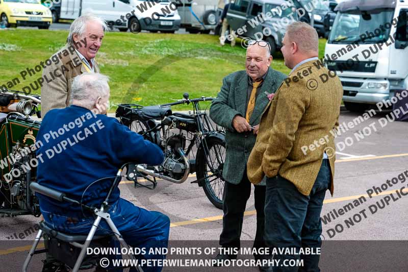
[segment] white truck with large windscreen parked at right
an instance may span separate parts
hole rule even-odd
[[[408,2],[351,0],[336,7],[325,59],[346,109],[362,112],[408,89]]]

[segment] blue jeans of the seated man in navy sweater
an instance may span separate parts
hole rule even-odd
[[[142,256],[136,255],[136,259],[165,259],[165,255],[160,253],[155,254],[154,251],[150,252],[150,250],[167,248],[170,228],[170,219],[167,215],[160,212],[147,211],[124,199],[118,199],[115,204],[110,206],[107,212],[110,214],[123,240],[131,248],[145,249],[145,254]],[[94,222],[93,218],[85,218],[77,223],[67,223],[67,216],[44,210],[41,210],[41,213],[49,227],[64,233],[88,234]],[[112,232],[107,222],[101,220],[96,235],[106,235],[110,233]],[[115,241],[117,240],[115,239]],[[119,246],[118,243],[111,244]],[[112,245],[109,246],[114,247]],[[117,257],[117,255],[113,255],[108,259],[110,259],[110,263],[112,264],[111,260],[117,259]],[[142,266],[142,269],[145,272],[160,272],[162,267],[150,265]],[[110,271],[122,271],[122,269],[116,268]],[[136,271],[136,268],[132,267],[130,272],[132,271]]]

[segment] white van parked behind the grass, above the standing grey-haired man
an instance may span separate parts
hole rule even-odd
[[[120,31],[174,33],[181,18],[169,0],[61,0],[60,19],[93,13]]]

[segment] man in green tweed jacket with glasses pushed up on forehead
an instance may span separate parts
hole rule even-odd
[[[250,41],[246,53],[246,70],[226,76],[221,91],[210,109],[211,119],[226,129],[226,155],[223,168],[225,179],[223,195],[223,228],[220,235],[222,251],[216,259],[237,257],[246,202],[251,183],[246,174],[246,162],[255,144],[261,115],[286,76],[270,68],[270,45],[265,41]],[[266,248],[265,183],[254,188],[257,210],[256,249]],[[270,256],[256,255],[256,259]],[[268,267],[260,267],[267,269]]]

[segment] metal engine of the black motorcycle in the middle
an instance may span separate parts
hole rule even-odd
[[[184,150],[185,147],[186,137],[184,135],[174,134],[166,141],[166,158],[163,167],[174,179],[180,179],[184,176],[186,165],[177,149]]]

